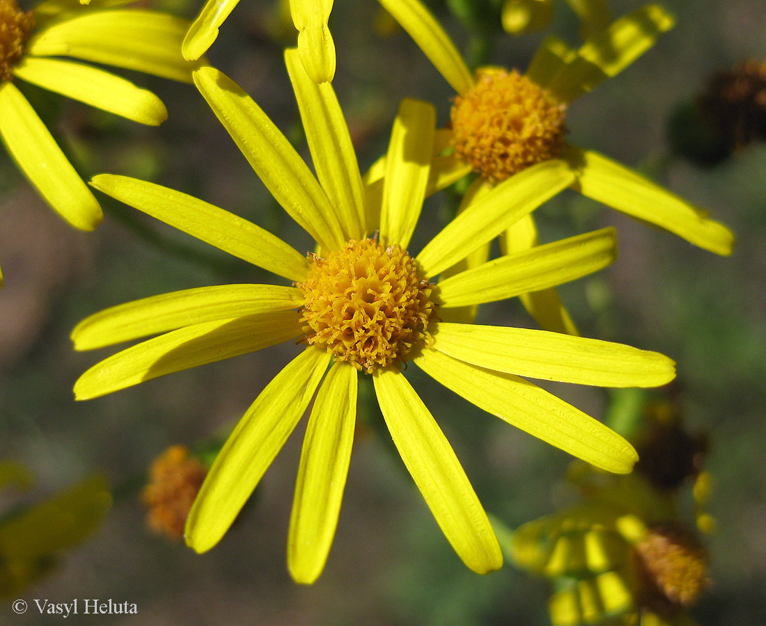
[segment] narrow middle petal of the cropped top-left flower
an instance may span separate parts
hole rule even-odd
[[[21,80],[134,122],[159,126],[168,119],[162,100],[129,80],[67,60],[26,57],[13,68]]]

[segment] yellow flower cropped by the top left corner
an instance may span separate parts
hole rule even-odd
[[[93,230],[103,217],[101,207],[16,81],[156,126],[168,112],[153,93],[105,70],[57,57],[191,83],[198,64],[178,52],[186,28],[186,21],[155,11],[46,0],[25,13],[16,0],[0,0],[0,136],[31,184],[72,226]]]

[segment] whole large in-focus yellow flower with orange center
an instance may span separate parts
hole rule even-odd
[[[80,377],[77,399],[297,340],[303,350],[260,393],[221,449],[192,507],[187,543],[198,552],[228,530],[296,427],[315,392],[290,520],[293,578],[313,582],[329,552],[349,468],[360,373],[372,374],[381,412],[404,464],[470,569],[502,556],[460,461],[402,364],[417,365],[471,403],[609,471],[637,459],[619,435],[516,376],[603,386],[656,386],[673,361],[620,344],[523,328],[440,321],[440,311],[509,298],[578,278],[615,255],[611,229],[503,256],[435,279],[509,223],[571,183],[548,161],[489,191],[417,256],[408,253],[430,171],[435,110],[405,100],[391,133],[380,229],[369,236],[365,195],[349,129],[331,83],[315,83],[286,51],[309,149],[309,167],[236,83],[210,67],[195,83],[259,177],[316,241],[304,256],[253,223],[186,194],[100,174],[93,186],[294,286],[221,285],[145,298],[101,311],[74,329],[77,350],[160,334]],[[328,370],[329,368],[329,370]]]

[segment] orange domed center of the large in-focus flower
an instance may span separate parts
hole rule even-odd
[[[358,370],[400,363],[418,344],[430,343],[434,285],[399,246],[349,241],[326,259],[315,257],[306,282],[296,286],[306,298],[306,341]]]

